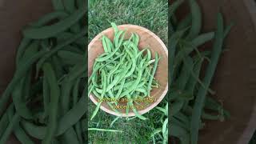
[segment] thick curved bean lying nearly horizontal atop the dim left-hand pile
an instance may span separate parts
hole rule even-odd
[[[33,39],[43,39],[51,38],[56,34],[63,32],[70,26],[73,26],[78,20],[80,20],[84,14],[86,14],[85,9],[76,10],[70,17],[55,23],[51,26],[43,26],[41,28],[27,28],[23,30],[24,37]]]

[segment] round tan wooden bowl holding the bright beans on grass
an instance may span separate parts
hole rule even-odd
[[[127,30],[126,38],[130,38],[130,34],[137,33],[140,37],[139,41],[139,49],[142,50],[144,47],[148,47],[152,53],[154,58],[155,52],[158,52],[161,57],[158,63],[158,69],[155,74],[155,78],[158,80],[160,87],[154,88],[150,92],[150,96],[155,98],[154,102],[151,102],[149,106],[145,106],[138,110],[139,114],[145,114],[157,106],[159,102],[162,101],[162,98],[165,97],[168,90],[168,50],[165,44],[162,42],[157,35],[152,33],[150,30],[143,28],[142,26],[134,26],[134,25],[121,25],[118,26],[119,30]],[[92,73],[92,68],[94,65],[94,59],[98,57],[99,54],[104,52],[102,47],[102,34],[106,35],[106,37],[110,38],[113,41],[114,38],[114,30],[109,28],[107,30],[102,31],[102,33],[98,34],[89,44],[88,46],[88,76]],[[98,103],[98,98],[94,96],[94,94],[90,94],[90,100],[94,102],[94,104]],[[120,106],[126,106],[126,102],[118,102]],[[141,102],[140,105],[144,106],[145,103]],[[106,102],[102,102],[100,108],[106,111],[109,114],[114,114],[116,116],[122,117],[131,117],[134,116],[134,112],[130,110],[130,112],[126,115],[126,109],[116,109],[119,110],[119,114],[112,110],[110,106],[106,104]]]

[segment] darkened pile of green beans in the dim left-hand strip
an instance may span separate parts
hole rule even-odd
[[[22,30],[16,71],[0,97],[0,144],[11,133],[22,144],[86,143],[85,2],[52,0],[54,12]]]

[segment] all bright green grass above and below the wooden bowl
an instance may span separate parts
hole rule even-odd
[[[146,27],[157,34],[167,45],[168,31],[168,1],[167,0],[94,0],[90,1],[89,8],[89,41],[102,30],[110,27],[110,22],[117,25],[134,24]],[[158,106],[165,106],[166,99]],[[89,114],[91,115],[95,105],[89,103]],[[130,121],[126,118],[119,118],[110,127],[111,122],[116,118],[114,115],[106,114],[99,110],[92,121],[89,121],[90,128],[122,130],[123,132],[89,131],[90,143],[152,143],[150,134],[156,128],[162,127],[160,119],[162,112],[150,110],[144,114],[147,119],[134,118]],[[90,118],[90,116],[89,116]],[[156,135],[155,140],[160,142],[161,136]]]

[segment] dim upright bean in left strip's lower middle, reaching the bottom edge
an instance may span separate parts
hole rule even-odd
[[[44,74],[46,74],[46,82],[50,87],[50,104],[49,104],[49,122],[47,126],[46,137],[42,140],[43,144],[51,143],[54,138],[55,130],[57,130],[58,118],[58,99],[60,97],[60,90],[58,87],[57,78],[54,74],[53,67],[50,63],[43,65]]]

